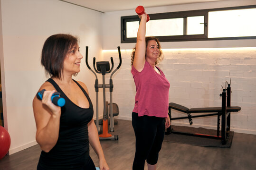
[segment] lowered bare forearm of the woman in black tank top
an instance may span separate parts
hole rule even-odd
[[[88,123],[88,134],[89,134],[89,143],[91,144],[95,153],[98,155],[100,170],[109,170],[109,167],[105,160],[104,153],[100,144],[97,128],[95,126],[93,119]]]

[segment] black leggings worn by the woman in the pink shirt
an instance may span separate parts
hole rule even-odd
[[[158,161],[165,131],[165,119],[154,116],[138,116],[132,113],[132,124],[136,137],[136,152],[133,170],[144,170],[145,160],[154,165]]]

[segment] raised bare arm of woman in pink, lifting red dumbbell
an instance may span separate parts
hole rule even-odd
[[[146,21],[147,21],[147,14],[144,13],[139,16],[141,18],[140,26],[137,33],[137,43],[136,43],[136,50],[133,60],[133,67],[141,72],[144,68],[145,64],[145,54],[146,54]]]

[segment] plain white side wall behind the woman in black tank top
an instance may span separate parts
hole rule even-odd
[[[89,46],[92,57],[102,58],[102,13],[59,0],[1,0],[2,91],[5,127],[15,153],[36,144],[36,126],[32,100],[47,80],[40,65],[43,43],[52,34],[66,33],[80,37],[80,51],[85,56]],[[3,67],[2,67],[3,66]],[[81,72],[74,77],[84,82],[95,102],[94,75],[82,59]]]

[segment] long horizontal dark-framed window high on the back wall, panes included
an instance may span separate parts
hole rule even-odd
[[[146,36],[161,42],[256,39],[256,5],[149,14]],[[140,19],[121,17],[121,42],[136,42]]]

